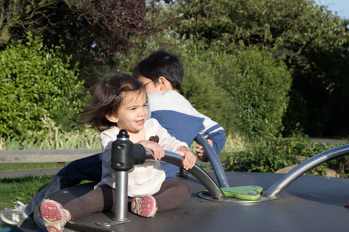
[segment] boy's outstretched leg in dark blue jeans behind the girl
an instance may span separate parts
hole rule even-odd
[[[74,160],[62,168],[52,179],[51,183],[35,195],[28,206],[25,207],[25,213],[34,220],[34,211],[46,196],[61,189],[77,185],[83,180],[100,182],[101,179],[102,153]]]

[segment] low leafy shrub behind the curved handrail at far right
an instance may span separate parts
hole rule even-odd
[[[343,144],[337,144],[340,146]],[[274,173],[284,167],[299,164],[321,152],[334,148],[330,143],[313,143],[309,136],[296,131],[290,137],[270,137],[265,140],[250,141],[250,147],[241,152],[231,153],[222,159],[225,171]],[[341,177],[349,176],[348,157],[329,161],[307,174],[326,175],[326,168],[337,170]]]

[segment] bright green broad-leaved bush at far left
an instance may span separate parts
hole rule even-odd
[[[69,123],[81,106],[79,70],[59,49],[43,47],[42,39],[28,33],[25,44],[12,42],[0,52],[0,138],[42,130],[43,116]]]

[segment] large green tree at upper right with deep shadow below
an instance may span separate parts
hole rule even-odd
[[[207,46],[227,52],[239,46],[268,48],[276,61],[284,61],[292,70],[295,93],[291,96],[299,96],[290,100],[290,106],[302,105],[306,110],[292,120],[300,121],[307,133],[324,134],[328,121],[321,113],[343,106],[333,107],[335,96],[349,98],[343,78],[348,71],[348,21],[326,7],[307,0],[188,0],[176,10],[175,30],[180,34],[194,35]],[[289,117],[296,113],[298,109],[288,109]],[[341,111],[331,115],[331,120],[339,121],[335,115],[341,113],[349,117]],[[349,122],[344,125],[349,128]]]

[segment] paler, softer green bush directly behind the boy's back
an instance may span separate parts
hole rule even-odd
[[[216,83],[213,54],[193,48],[181,55],[185,70],[181,94],[196,110],[220,123],[226,131],[236,132],[236,103]]]

